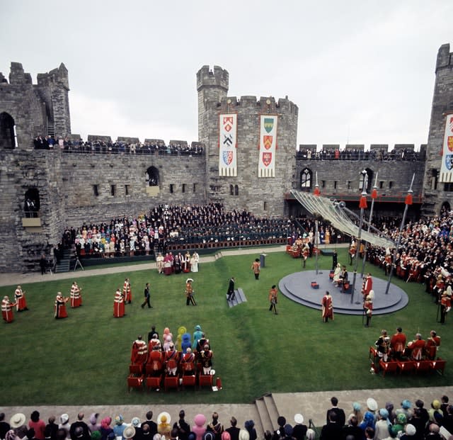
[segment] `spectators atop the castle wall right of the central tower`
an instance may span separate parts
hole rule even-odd
[[[323,148],[317,151],[311,148],[299,147],[296,157],[297,159],[306,160],[405,160],[411,162],[425,159],[423,154],[411,148],[393,149],[388,152],[383,149],[364,151],[358,148]]]

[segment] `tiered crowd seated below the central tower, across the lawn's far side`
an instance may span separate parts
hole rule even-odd
[[[301,221],[309,228],[307,237],[312,239],[314,223],[305,220]],[[154,249],[166,252],[169,247],[177,249],[184,244],[209,247],[209,244],[222,242],[285,242],[287,237],[302,234],[299,225],[301,223],[293,219],[258,218],[245,210],[226,211],[220,203],[159,205],[137,218],[117,218],[110,222],[84,223],[78,228],[67,228],[62,237],[62,247],[74,245],[79,256],[149,255]],[[328,242],[326,237],[331,234],[338,237],[328,224],[321,226],[321,242]]]

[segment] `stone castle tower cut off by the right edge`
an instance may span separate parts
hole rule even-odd
[[[442,206],[447,210],[453,208],[453,183],[440,175],[442,161],[447,159],[445,152],[442,154],[445,124],[453,116],[453,53],[449,44],[442,45],[437,52],[435,74],[423,181],[423,215],[438,215]]]

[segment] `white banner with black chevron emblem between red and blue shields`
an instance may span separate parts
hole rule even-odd
[[[219,115],[219,176],[238,175],[237,170],[238,115]]]

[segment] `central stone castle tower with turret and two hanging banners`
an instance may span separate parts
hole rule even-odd
[[[227,96],[228,72],[221,67],[212,72],[204,66],[197,72],[197,92],[199,140],[207,150],[207,201],[255,215],[287,213],[285,193],[294,180],[297,106],[287,97]],[[222,128],[221,121],[226,120],[231,125]],[[263,150],[264,141],[269,142],[265,147],[269,150]]]

